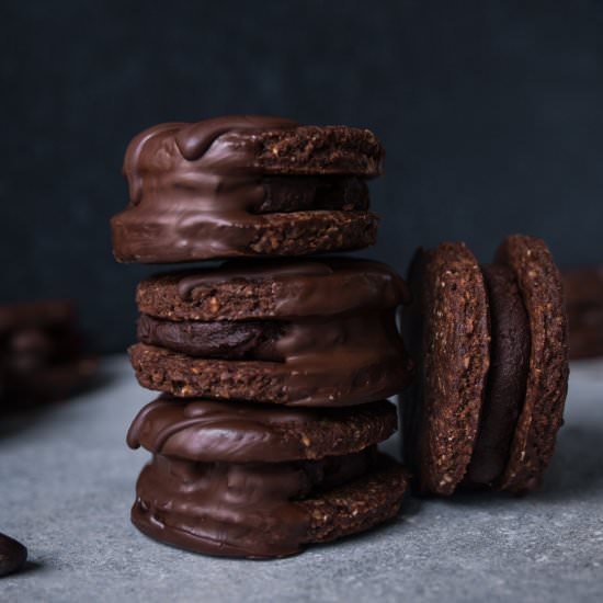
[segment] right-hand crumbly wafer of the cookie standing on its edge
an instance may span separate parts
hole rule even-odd
[[[525,401],[501,488],[537,488],[562,424],[568,387],[568,330],[561,275],[541,239],[514,235],[503,241],[497,263],[517,278],[531,331]]]

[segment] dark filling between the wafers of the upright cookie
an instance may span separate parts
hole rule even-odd
[[[466,479],[492,485],[502,475],[523,408],[530,365],[530,321],[516,278],[502,265],[482,265],[491,323],[490,369],[479,431]]]

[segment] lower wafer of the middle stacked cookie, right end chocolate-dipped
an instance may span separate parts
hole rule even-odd
[[[374,346],[330,363],[322,355],[310,357],[297,365],[302,369],[278,362],[197,359],[143,343],[129,355],[143,387],[183,398],[352,406],[394,396],[411,377],[402,351],[384,356]]]

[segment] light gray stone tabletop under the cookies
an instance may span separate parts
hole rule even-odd
[[[152,394],[125,359],[104,369],[102,388],[0,425],[0,532],[31,559],[0,580],[2,602],[603,600],[603,363],[572,367],[542,492],[410,499],[394,524],[276,561],[196,556],[136,532],[147,455],[124,437]]]

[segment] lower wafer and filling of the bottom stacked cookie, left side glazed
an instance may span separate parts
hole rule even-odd
[[[392,517],[406,483],[403,470],[373,450],[268,465],[155,456],[138,478],[132,521],[197,553],[283,557]]]

